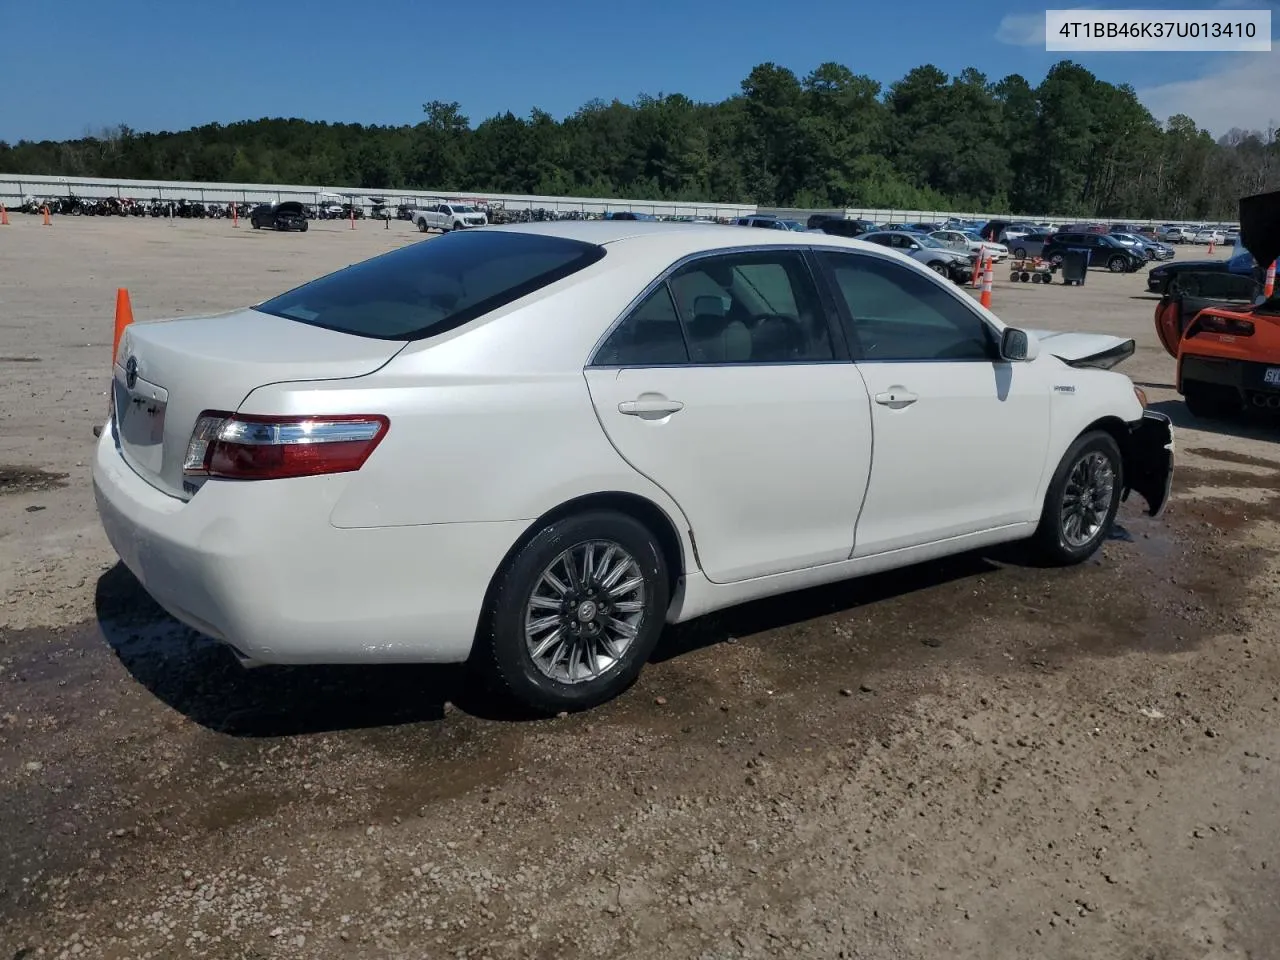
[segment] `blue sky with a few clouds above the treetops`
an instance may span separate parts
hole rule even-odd
[[[563,116],[593,97],[721,100],[767,60],[800,76],[836,60],[888,84],[924,63],[1036,83],[1071,58],[1132,83],[1158,119],[1185,111],[1215,133],[1280,120],[1280,46],[1048,54],[1037,9],[1010,0],[0,0],[0,140],[260,116],[416,123],[428,100],[457,100],[474,123],[534,106]]]

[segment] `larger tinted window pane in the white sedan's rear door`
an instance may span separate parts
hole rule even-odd
[[[796,251],[704,257],[668,283],[694,364],[835,360],[817,285]]]

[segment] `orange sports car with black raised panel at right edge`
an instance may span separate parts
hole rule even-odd
[[[1280,191],[1240,201],[1240,243],[1254,262],[1275,262]],[[1178,360],[1178,392],[1193,416],[1280,412],[1280,296],[1262,296],[1261,275],[1179,274],[1156,307],[1156,333]]]

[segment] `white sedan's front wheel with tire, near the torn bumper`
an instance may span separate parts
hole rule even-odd
[[[1091,430],[1062,456],[1032,538],[1036,557],[1047,566],[1083,563],[1102,545],[1124,492],[1124,460],[1115,438]]]

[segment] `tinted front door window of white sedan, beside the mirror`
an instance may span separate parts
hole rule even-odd
[[[849,311],[849,333],[867,361],[993,361],[996,337],[945,287],[901,264],[860,253],[820,257]]]

